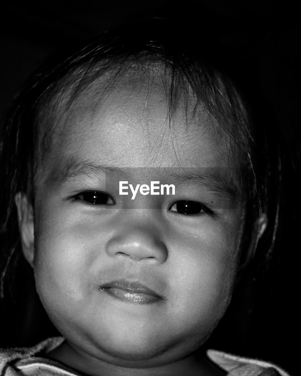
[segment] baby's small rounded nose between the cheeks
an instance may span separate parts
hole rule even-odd
[[[163,264],[168,256],[166,244],[160,236],[147,228],[125,228],[106,244],[109,256],[125,256],[134,261]]]

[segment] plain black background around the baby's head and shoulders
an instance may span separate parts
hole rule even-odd
[[[225,33],[225,39],[229,44],[249,43],[253,50],[260,51],[260,67],[256,67],[261,75],[260,90],[265,91],[278,117],[285,119],[286,123],[292,126],[292,136],[296,137],[295,146],[298,147],[299,13],[292,2],[112,0],[82,3],[45,1],[39,2],[38,6],[36,4],[1,3],[1,114],[8,108],[29,74],[57,49],[63,49],[95,32],[146,15],[164,16],[179,13],[182,17],[189,17],[198,11],[201,4],[232,25],[229,27],[231,31]],[[240,24],[240,31],[236,30],[236,23]],[[245,24],[243,33],[242,24]],[[271,37],[272,42],[266,44],[262,50],[263,41],[267,36]],[[298,168],[296,171],[300,171]],[[300,252],[298,233],[301,224],[298,216],[301,209],[298,176],[292,177],[290,184],[287,193],[287,226],[284,229],[286,236],[281,244],[283,252],[274,265],[274,271],[269,274],[269,294],[261,297],[262,314],[257,317],[252,333],[240,324],[240,328],[233,331],[233,336],[228,333],[227,338],[217,343],[217,347],[241,355],[274,361],[292,374],[298,374],[297,307],[300,294],[297,284],[300,271],[297,260]],[[24,265],[24,268],[26,267]],[[0,346],[31,345],[43,339],[40,338],[43,331],[40,330],[38,322],[44,313],[35,309],[36,297],[30,292],[32,283],[24,281],[23,299],[17,307],[19,320],[23,324],[17,321],[2,322],[5,328],[0,329]],[[14,331],[11,330],[12,327],[17,327],[18,336],[15,342],[10,338],[11,333],[16,331],[15,328]]]

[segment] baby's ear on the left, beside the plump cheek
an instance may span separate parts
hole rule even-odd
[[[15,204],[18,212],[22,251],[26,260],[33,267],[35,257],[33,208],[26,194],[21,192],[16,194]]]

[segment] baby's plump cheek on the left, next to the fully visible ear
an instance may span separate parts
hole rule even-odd
[[[46,210],[35,233],[35,280],[41,300],[79,302],[89,294],[90,265],[97,252],[95,228],[67,211]],[[100,235],[101,237],[101,235]],[[99,244],[101,244],[98,235]],[[67,306],[67,305],[66,305]]]

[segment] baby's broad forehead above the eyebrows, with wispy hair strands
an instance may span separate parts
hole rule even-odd
[[[117,167],[237,167],[227,133],[192,93],[150,70],[97,79],[55,125],[51,149],[55,164],[76,155]]]

